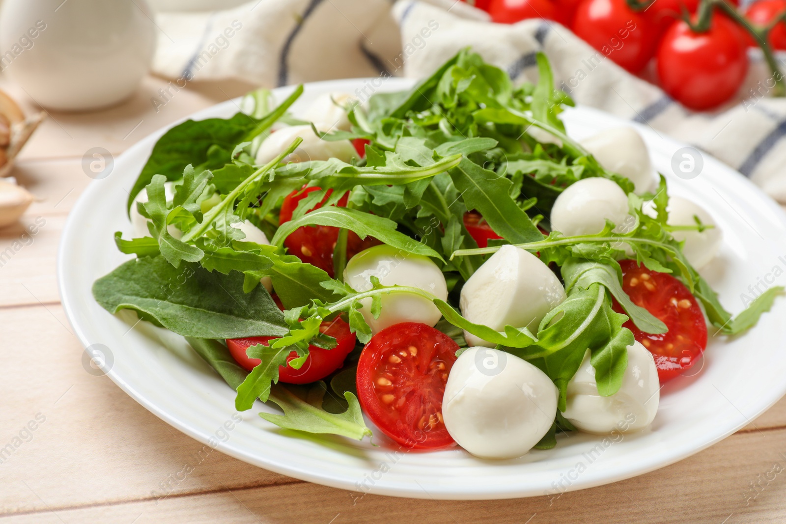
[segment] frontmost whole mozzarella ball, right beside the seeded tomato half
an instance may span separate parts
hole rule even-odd
[[[558,391],[540,369],[519,357],[470,347],[450,370],[443,419],[472,455],[512,459],[527,453],[556,417]]]

